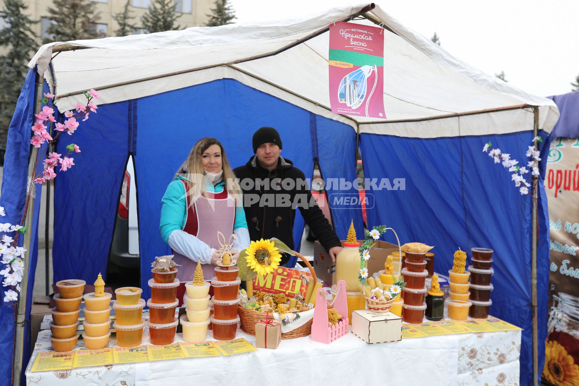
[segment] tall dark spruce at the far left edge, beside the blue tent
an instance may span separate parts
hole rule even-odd
[[[6,23],[0,31],[0,46],[8,48],[6,54],[0,57],[0,102],[3,106],[0,113],[0,146],[4,148],[8,126],[28,72],[28,61],[38,47],[30,28],[38,21],[32,21],[24,14],[27,8],[22,0],[5,0],[4,9],[0,12]]]

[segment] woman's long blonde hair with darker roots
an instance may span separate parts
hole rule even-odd
[[[223,149],[221,142],[210,137],[201,138],[197,141],[185,162],[181,164],[181,167],[175,173],[175,176],[180,175],[189,181],[189,192],[185,193],[189,195],[189,204],[193,205],[201,194],[207,192],[206,181],[203,178],[205,170],[203,169],[203,163],[201,163],[201,157],[203,152],[211,145],[218,145],[221,149],[221,169],[223,170],[221,179],[225,181],[225,189],[227,189],[229,196],[235,199],[236,205],[243,205],[241,187],[229,165],[225,149]]]

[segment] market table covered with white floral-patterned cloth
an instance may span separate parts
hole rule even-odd
[[[146,330],[146,329],[145,329]],[[50,350],[50,330],[38,334],[26,371],[27,385],[252,386],[303,380],[309,385],[478,385],[518,383],[521,330],[429,336],[367,344],[354,334],[323,344],[309,337],[283,340],[276,350],[210,358],[125,363],[54,372],[30,371],[38,352]],[[255,337],[237,330],[255,345]],[[211,331],[207,339],[212,339]],[[182,341],[177,334],[177,341]],[[79,340],[79,343],[82,343]],[[113,336],[109,345],[115,345]],[[148,344],[144,334],[143,344]],[[80,346],[80,344],[79,344]],[[84,348],[84,347],[78,347]]]

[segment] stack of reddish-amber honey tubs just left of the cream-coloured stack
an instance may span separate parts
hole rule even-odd
[[[149,341],[151,344],[171,344],[175,339],[175,330],[179,321],[175,318],[175,308],[178,306],[177,287],[179,280],[177,268],[168,272],[151,270],[153,278],[148,284],[151,287],[151,299],[147,300],[149,307]],[[144,300],[143,300],[144,304]]]

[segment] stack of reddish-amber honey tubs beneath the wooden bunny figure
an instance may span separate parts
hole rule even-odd
[[[217,266],[215,277],[211,280],[214,296],[211,299],[214,313],[211,316],[213,325],[213,337],[217,340],[235,339],[237,323],[237,304],[241,301],[239,285],[241,280],[237,277],[238,267]]]

